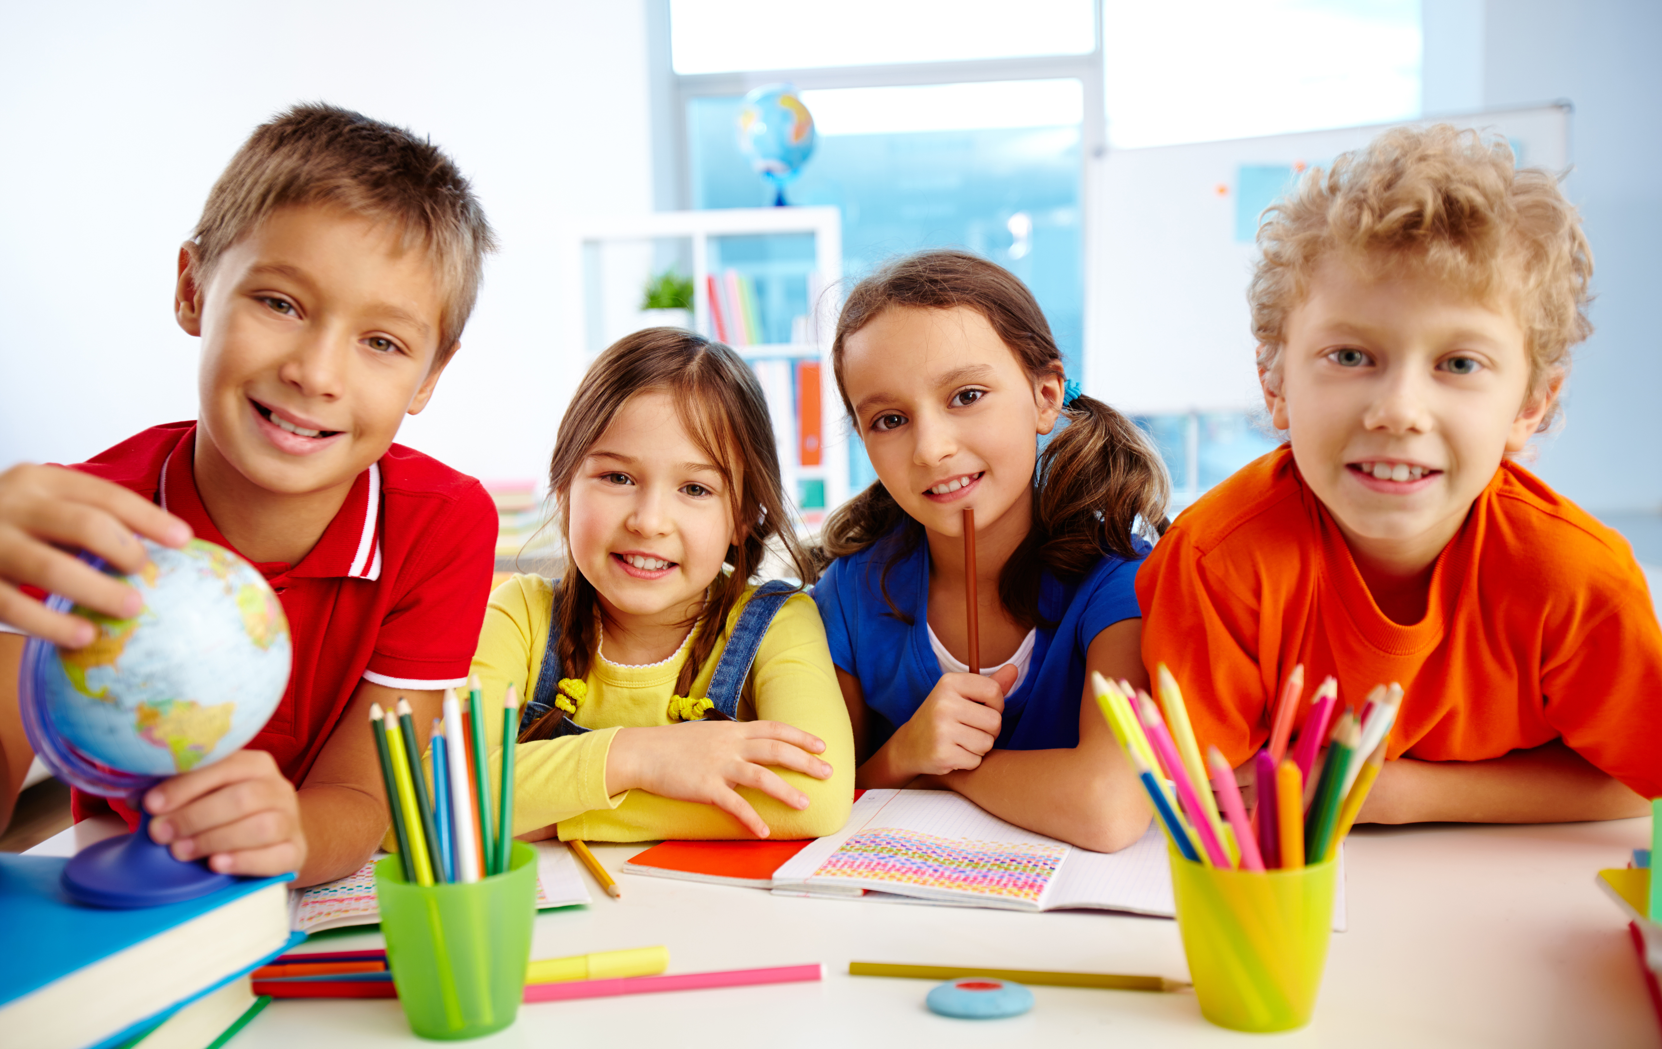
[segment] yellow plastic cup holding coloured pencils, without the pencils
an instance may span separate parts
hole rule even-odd
[[[1175,848],[1170,856],[1200,1014],[1232,1031],[1308,1024],[1328,961],[1338,863],[1256,873],[1203,866]]]

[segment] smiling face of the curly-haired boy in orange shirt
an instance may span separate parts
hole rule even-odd
[[[1413,268],[1325,259],[1288,314],[1265,402],[1351,549],[1418,570],[1448,545],[1507,452],[1536,432],[1524,331]]]

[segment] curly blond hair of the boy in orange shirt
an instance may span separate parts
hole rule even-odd
[[[1453,125],[1393,128],[1366,150],[1311,170],[1258,226],[1246,289],[1258,371],[1276,387],[1286,318],[1333,253],[1369,271],[1409,266],[1484,303],[1509,306],[1524,329],[1529,397],[1569,367],[1592,334],[1592,249],[1557,178],[1516,166],[1501,136]],[[1541,419],[1546,431],[1559,406]]]

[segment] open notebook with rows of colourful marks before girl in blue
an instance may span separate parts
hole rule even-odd
[[[866,791],[848,825],[786,861],[773,874],[773,886],[791,896],[1010,911],[1175,913],[1158,828],[1150,826],[1117,853],[1092,853],[1024,831],[961,795],[937,790]],[[1333,928],[1345,928],[1343,866]]]

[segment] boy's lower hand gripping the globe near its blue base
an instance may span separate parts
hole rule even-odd
[[[208,858],[221,874],[268,878],[306,863],[299,800],[263,750],[173,776],[145,795],[150,836],[178,859]]]

